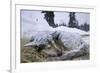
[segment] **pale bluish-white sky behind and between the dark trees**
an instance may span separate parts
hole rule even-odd
[[[55,24],[66,23],[68,25],[69,12],[54,12],[54,22]],[[87,22],[90,24],[90,14],[76,12],[76,19],[79,25]],[[21,33],[29,33],[37,30],[48,30],[49,25],[44,19],[44,14],[41,11],[34,10],[21,10]]]

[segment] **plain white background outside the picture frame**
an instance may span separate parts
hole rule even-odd
[[[36,1],[36,0],[35,0]],[[38,0],[37,0],[38,1]],[[56,1],[56,0],[40,0],[40,1]],[[97,66],[86,68],[68,68],[66,70],[53,70],[43,73],[99,73],[100,72],[100,0],[57,0],[58,3],[66,2],[69,4],[86,4],[96,6],[96,31],[95,45],[97,53]],[[0,73],[9,73],[10,69],[10,0],[0,0]],[[42,72],[40,72],[42,73]]]

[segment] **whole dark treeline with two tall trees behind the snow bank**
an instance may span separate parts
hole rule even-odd
[[[85,22],[83,25],[79,25],[78,20],[76,19],[76,13],[75,12],[69,12],[69,22],[68,22],[68,26],[66,25],[66,23],[62,23],[62,24],[55,24],[54,23],[54,12],[53,11],[42,11],[41,13],[44,13],[44,19],[48,22],[49,26],[56,28],[59,26],[66,26],[66,27],[70,27],[70,28],[78,28],[84,31],[89,31],[89,24],[87,24],[87,22]]]

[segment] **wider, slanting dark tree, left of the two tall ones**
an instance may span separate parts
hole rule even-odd
[[[46,19],[48,24],[54,28],[55,27],[54,12],[53,11],[42,11],[42,13],[44,13],[44,16],[45,16],[44,19]]]

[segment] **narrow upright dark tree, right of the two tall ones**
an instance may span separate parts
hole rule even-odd
[[[76,20],[76,18],[75,18],[76,16],[75,16],[75,12],[70,12],[69,13],[69,27],[72,27],[72,28],[74,28],[74,27],[78,27],[78,21]]]

